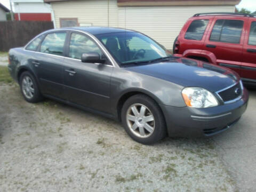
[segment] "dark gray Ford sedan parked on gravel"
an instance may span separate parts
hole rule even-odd
[[[122,121],[135,141],[209,137],[236,123],[248,93],[227,68],[173,57],[137,31],[45,31],[9,51],[9,71],[28,102],[43,97]]]

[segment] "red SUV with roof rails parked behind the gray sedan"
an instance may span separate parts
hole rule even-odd
[[[243,13],[198,13],[175,39],[173,53],[236,71],[256,84],[256,18]]]

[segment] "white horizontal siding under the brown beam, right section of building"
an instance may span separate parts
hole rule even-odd
[[[138,30],[172,49],[174,39],[195,13],[234,12],[235,6],[119,7],[119,27]]]

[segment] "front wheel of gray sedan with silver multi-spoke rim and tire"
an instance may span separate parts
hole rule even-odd
[[[125,131],[137,142],[150,145],[166,137],[162,110],[147,95],[137,94],[127,99],[121,117]]]

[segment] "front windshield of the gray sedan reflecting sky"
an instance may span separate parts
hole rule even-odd
[[[150,62],[171,55],[163,46],[140,33],[100,34],[97,38],[121,65]]]

